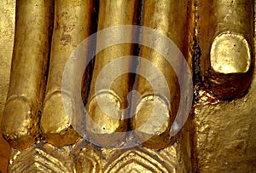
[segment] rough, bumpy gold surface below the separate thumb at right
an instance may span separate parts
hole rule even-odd
[[[254,75],[255,78],[255,75]],[[196,170],[255,171],[255,80],[242,99],[195,108]]]

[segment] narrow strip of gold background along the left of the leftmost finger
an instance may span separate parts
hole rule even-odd
[[[0,7],[0,124],[9,88],[12,51],[15,40],[15,1],[4,0]],[[10,147],[0,128],[0,170],[6,172]]]

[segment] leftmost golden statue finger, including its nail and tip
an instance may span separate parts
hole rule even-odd
[[[18,1],[15,46],[8,99],[3,112],[3,135],[13,147],[37,141],[38,111],[45,86],[52,2]]]

